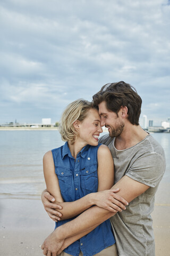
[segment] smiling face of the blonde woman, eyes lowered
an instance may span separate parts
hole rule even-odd
[[[79,139],[84,143],[84,146],[97,146],[101,132],[103,132],[103,130],[100,126],[98,110],[90,109],[87,117],[79,124]]]

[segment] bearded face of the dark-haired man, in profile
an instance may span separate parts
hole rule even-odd
[[[99,115],[101,117],[100,125],[108,128],[110,137],[118,137],[124,129],[124,122],[121,118],[121,110],[118,111],[118,116],[115,112],[108,110],[106,102],[103,101],[99,105]]]

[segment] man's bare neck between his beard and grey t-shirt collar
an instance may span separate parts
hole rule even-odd
[[[115,148],[123,150],[137,145],[147,137],[148,133],[140,125],[128,123],[125,125],[123,132],[115,139]]]

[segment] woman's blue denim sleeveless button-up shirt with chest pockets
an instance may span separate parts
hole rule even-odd
[[[65,202],[73,202],[89,193],[97,192],[97,151],[100,145],[85,146],[76,159],[71,155],[67,142],[64,146],[52,150],[55,173]],[[72,219],[56,222],[55,228]],[[89,234],[68,246],[64,252],[79,256],[81,250],[83,256],[92,256],[114,243],[111,222],[106,220]]]

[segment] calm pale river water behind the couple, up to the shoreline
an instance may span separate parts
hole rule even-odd
[[[151,134],[165,150],[170,182],[170,133]],[[43,156],[63,145],[58,131],[0,131],[0,198],[40,198],[45,189]]]

